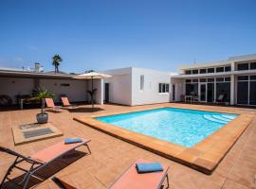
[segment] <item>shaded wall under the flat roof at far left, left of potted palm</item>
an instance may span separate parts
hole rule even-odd
[[[15,95],[31,94],[33,89],[33,78],[0,77],[0,94],[9,95],[13,104],[16,104]]]

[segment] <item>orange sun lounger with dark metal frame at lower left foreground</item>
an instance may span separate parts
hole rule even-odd
[[[24,189],[27,188],[28,180],[32,175],[36,175],[35,174],[36,171],[45,167],[48,163],[52,163],[54,160],[60,158],[67,152],[72,151],[80,146],[86,146],[89,151],[89,154],[91,154],[90,148],[88,146],[89,142],[90,140],[82,139],[81,143],[73,143],[73,144],[65,145],[64,141],[62,141],[53,146],[48,146],[45,149],[42,149],[41,151],[38,151],[28,157],[22,154],[19,154],[7,147],[0,146],[0,151],[9,153],[10,155],[13,155],[16,157],[14,163],[12,163],[9,166],[9,169],[0,184],[0,188],[3,187],[5,180],[9,180],[8,176],[13,168],[17,168],[26,173],[24,179],[20,183],[24,183],[24,186],[23,186]],[[23,163],[23,162],[27,162],[30,164],[30,168],[28,170],[22,168],[21,166],[18,166],[19,163]]]

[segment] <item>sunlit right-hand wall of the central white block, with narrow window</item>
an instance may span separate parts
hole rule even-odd
[[[144,76],[144,89],[140,91],[140,76]],[[132,106],[170,102],[169,93],[158,93],[159,83],[170,85],[171,74],[144,68],[132,68]]]

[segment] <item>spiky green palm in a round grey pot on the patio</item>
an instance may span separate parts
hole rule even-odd
[[[46,89],[36,89],[33,92],[33,99],[41,101],[41,112],[36,114],[37,123],[46,124],[48,121],[48,114],[46,113],[47,97],[53,97],[54,94],[49,94]]]

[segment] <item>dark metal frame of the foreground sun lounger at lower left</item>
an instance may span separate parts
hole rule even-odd
[[[9,149],[9,148],[0,146],[0,151],[9,153],[10,155],[13,155],[13,156],[16,157],[15,161],[9,166],[9,169],[8,169],[8,171],[7,171],[7,173],[6,173],[5,177],[4,177],[4,179],[2,180],[2,182],[1,182],[1,184],[0,184],[0,188],[3,187],[5,180],[10,180],[10,179],[8,178],[8,176],[9,176],[9,174],[11,173],[11,171],[13,170],[13,168],[17,168],[17,169],[19,169],[19,170],[24,171],[25,173],[27,173],[27,174],[25,175],[24,179],[21,180],[21,181],[18,183],[19,185],[21,185],[22,183],[24,183],[23,189],[26,189],[26,188],[27,188],[28,181],[29,181],[29,179],[30,179],[30,177],[31,177],[32,175],[33,175],[33,176],[37,176],[37,177],[39,177],[39,178],[42,177],[42,176],[40,176],[40,175],[35,174],[36,171],[38,171],[39,169],[45,167],[48,163],[52,163],[52,162],[55,161],[56,159],[62,157],[64,154],[66,154],[66,153],[68,153],[68,152],[70,152],[70,151],[72,151],[72,150],[74,150],[74,149],[76,149],[76,148],[78,148],[78,147],[80,147],[80,146],[86,146],[87,149],[88,149],[88,151],[89,151],[88,154],[91,154],[90,147],[89,147],[88,144],[87,144],[87,143],[89,143],[89,142],[90,142],[90,140],[84,141],[84,142],[82,142],[79,146],[74,146],[74,147],[70,148],[69,150],[64,151],[64,153],[59,154],[58,156],[56,156],[55,158],[53,158],[52,160],[50,160],[50,161],[48,161],[48,162],[46,162],[46,163],[33,160],[33,159],[31,159],[30,157],[23,156],[22,154],[19,154],[19,153],[15,152],[15,151],[13,151],[13,150],[11,150],[11,149]],[[17,165],[18,163],[22,163],[22,162],[27,162],[27,163],[30,163],[30,164],[31,164],[31,166],[29,167],[28,170],[26,170],[26,169],[24,169],[24,168],[22,168],[22,167],[20,167],[20,166]],[[42,177],[42,178],[43,178],[43,177]],[[44,179],[45,179],[45,178],[43,178],[43,180],[44,180]]]

